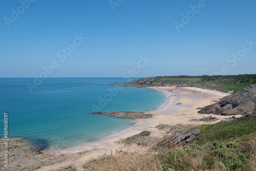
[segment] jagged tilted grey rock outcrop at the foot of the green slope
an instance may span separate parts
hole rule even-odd
[[[158,148],[170,148],[170,147],[177,147],[180,148],[186,147],[187,143],[190,142],[193,138],[197,135],[201,134],[202,131],[196,128],[190,129],[188,131],[184,131],[178,135],[173,135],[168,138],[165,138],[163,141],[157,143],[156,149]]]

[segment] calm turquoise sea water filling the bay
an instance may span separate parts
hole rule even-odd
[[[108,85],[123,78],[47,78],[30,93],[27,83],[33,80],[0,78],[0,127],[4,127],[5,112],[9,138],[22,137],[43,149],[92,142],[135,123],[94,111],[150,111],[166,100],[156,90]]]

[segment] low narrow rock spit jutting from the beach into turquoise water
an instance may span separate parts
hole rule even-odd
[[[97,112],[93,112],[96,114]],[[98,112],[97,114],[100,115],[109,115],[114,117],[120,117],[120,118],[129,118],[129,119],[148,119],[152,118],[152,114],[146,114],[144,112],[107,112],[107,113],[101,113]]]

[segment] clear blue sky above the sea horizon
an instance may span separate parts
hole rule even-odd
[[[2,0],[0,77],[34,77],[42,67],[48,77],[255,74],[255,7],[255,0]]]

